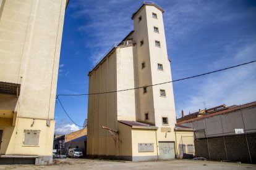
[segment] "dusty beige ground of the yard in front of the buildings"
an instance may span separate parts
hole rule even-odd
[[[256,164],[194,160],[130,162],[67,158],[54,161],[48,166],[0,165],[0,169],[256,169]]]

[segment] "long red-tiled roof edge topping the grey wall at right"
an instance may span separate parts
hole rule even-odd
[[[215,116],[215,115],[221,115],[221,114],[225,114],[225,113],[230,113],[232,111],[236,111],[236,110],[239,110],[241,108],[247,108],[247,107],[252,107],[252,106],[256,106],[256,101],[255,102],[251,102],[251,103],[246,103],[244,105],[239,105],[239,106],[236,106],[236,107],[230,107],[230,108],[225,109],[225,110],[216,111],[215,113],[211,113],[209,115],[205,115],[205,116],[200,116],[200,117],[197,117],[197,118],[192,118],[192,119],[184,120],[184,121],[181,121],[181,122],[179,122],[177,124],[188,123],[190,121],[195,121],[195,120],[198,120],[198,119],[209,118],[209,117],[212,117],[212,116]]]

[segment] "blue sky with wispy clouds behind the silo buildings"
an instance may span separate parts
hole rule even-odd
[[[64,20],[57,94],[88,92],[88,71],[131,30],[143,1],[70,0]],[[256,59],[256,1],[159,0],[173,79]],[[177,117],[199,108],[256,100],[256,64],[173,83]],[[60,97],[75,123],[87,118],[87,97]],[[55,110],[56,133],[75,131]]]

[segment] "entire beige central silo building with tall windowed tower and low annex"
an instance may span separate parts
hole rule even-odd
[[[89,93],[94,94],[88,97],[89,156],[132,161],[174,158],[176,113],[172,84],[150,86],[147,92],[133,89],[171,81],[162,14],[156,4],[143,4],[132,17],[134,31],[88,74]],[[124,89],[133,90],[121,91]],[[111,93],[95,94],[101,92]],[[151,126],[129,126],[121,123],[124,120]],[[145,145],[145,150],[139,149],[140,145]],[[172,153],[161,155],[166,150]]]

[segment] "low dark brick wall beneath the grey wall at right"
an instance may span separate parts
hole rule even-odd
[[[247,141],[252,162],[256,163],[256,133],[247,134]],[[249,150],[244,134],[208,138],[208,144],[207,139],[195,140],[195,155],[210,160],[227,160],[228,156],[230,161],[250,162]]]

